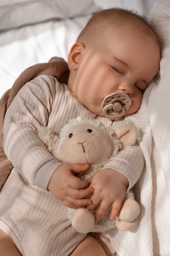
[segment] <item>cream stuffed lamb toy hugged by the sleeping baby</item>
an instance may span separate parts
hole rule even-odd
[[[89,164],[89,169],[79,174],[79,177],[87,180],[101,170],[119,150],[135,144],[138,131],[133,124],[124,120],[106,128],[100,121],[78,117],[63,126],[59,134],[41,126],[38,136],[58,161]],[[105,232],[114,227],[127,231],[137,225],[140,212],[139,204],[130,191],[126,193],[120,213],[114,220],[109,218],[111,208],[105,216],[96,220],[97,210],[98,207],[94,211],[85,207],[68,208],[68,218],[79,233]]]

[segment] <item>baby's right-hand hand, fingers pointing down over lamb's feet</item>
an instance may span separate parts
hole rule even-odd
[[[111,206],[110,219],[113,220],[120,211],[129,181],[123,174],[112,169],[96,172],[89,181],[94,188],[94,194],[91,197],[93,204],[87,209],[92,211],[100,204],[96,214],[96,219],[99,220]]]

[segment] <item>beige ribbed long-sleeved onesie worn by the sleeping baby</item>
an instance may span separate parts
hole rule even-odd
[[[48,75],[26,83],[5,115],[4,151],[14,168],[0,193],[0,229],[11,236],[23,256],[68,256],[85,237],[70,225],[67,207],[47,190],[60,163],[37,136],[39,126],[59,132],[77,116],[111,125],[87,110],[67,85]],[[142,151],[135,145],[120,151],[105,167],[126,175],[130,189],[143,166]]]

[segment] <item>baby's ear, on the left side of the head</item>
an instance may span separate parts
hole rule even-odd
[[[77,70],[78,63],[84,49],[85,49],[85,45],[81,42],[76,42],[70,49],[70,52],[68,55],[68,64],[73,70]]]

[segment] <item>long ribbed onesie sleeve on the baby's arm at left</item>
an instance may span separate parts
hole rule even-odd
[[[48,126],[55,81],[42,75],[26,83],[7,109],[3,126],[4,152],[15,170],[42,189],[47,189],[52,173],[61,165],[37,135],[39,126]]]

